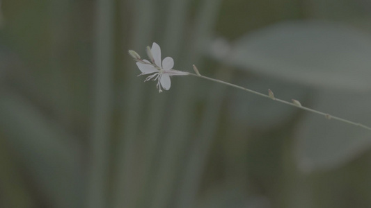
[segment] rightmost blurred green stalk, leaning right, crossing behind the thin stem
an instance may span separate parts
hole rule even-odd
[[[216,17],[219,12],[221,0],[205,0],[201,3],[201,8],[196,16],[196,28],[194,29],[193,42],[189,44],[187,56],[184,58],[184,64],[198,62],[200,60],[201,51],[207,40],[210,39],[212,28],[216,22]],[[175,181],[177,177],[177,162],[180,158],[180,149],[184,146],[189,131],[191,121],[191,105],[194,103],[196,86],[193,80],[180,80],[183,85],[177,92],[177,98],[174,105],[177,106],[171,114],[168,125],[168,135],[166,135],[164,153],[160,158],[159,172],[155,180],[155,196],[151,207],[161,208],[166,207],[173,196]],[[187,83],[184,83],[187,81]]]

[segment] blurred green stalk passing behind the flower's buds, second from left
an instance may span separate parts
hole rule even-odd
[[[129,3],[130,2],[130,3]],[[155,1],[138,0],[126,1],[129,8],[132,8],[132,49],[145,49],[145,46],[151,45],[153,29],[155,27]],[[127,51],[127,49],[125,49]],[[139,71],[135,69],[135,64],[129,62],[126,65],[128,72],[125,80],[125,86],[122,89],[125,94],[125,104],[120,112],[123,123],[120,123],[120,133],[118,141],[118,154],[115,158],[116,171],[113,173],[114,184],[112,203],[113,207],[129,208],[134,207],[139,190],[137,184],[138,168],[136,168],[136,142],[140,141],[138,137],[141,110],[144,106],[144,85],[143,80],[135,79]],[[127,85],[126,85],[127,84]]]

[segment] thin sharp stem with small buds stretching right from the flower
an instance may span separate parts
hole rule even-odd
[[[367,129],[367,130],[371,130],[371,127],[369,127],[369,126],[367,126],[367,125],[363,125],[362,123],[356,123],[356,122],[353,122],[353,121],[349,121],[349,120],[347,120],[347,119],[342,119],[342,118],[337,117],[337,116],[332,116],[332,115],[330,115],[330,114],[326,114],[326,113],[324,113],[324,112],[320,112],[320,111],[318,111],[318,110],[313,110],[313,109],[308,108],[308,107],[303,107],[303,106],[301,106],[301,105],[297,105],[297,104],[294,104],[294,103],[290,103],[290,102],[288,102],[288,101],[283,101],[283,100],[278,99],[278,98],[271,98],[271,97],[270,97],[269,95],[267,95],[267,94],[262,94],[262,93],[260,93],[260,92],[253,91],[253,90],[251,90],[251,89],[247,89],[247,88],[245,88],[245,87],[241,87],[241,86],[238,86],[238,85],[233,85],[233,84],[231,84],[231,83],[227,83],[227,82],[224,82],[224,81],[222,81],[222,80],[217,80],[217,79],[210,78],[210,77],[207,77],[207,76],[197,75],[196,73],[189,73],[189,75],[191,75],[191,76],[196,76],[196,77],[198,77],[198,78],[204,78],[204,79],[206,79],[206,80],[211,80],[211,81],[213,81],[213,82],[221,83],[221,84],[223,84],[223,85],[229,85],[230,87],[235,87],[235,88],[238,88],[238,89],[242,89],[242,90],[244,90],[244,91],[251,92],[251,93],[253,93],[253,94],[257,94],[258,96],[262,96],[262,97],[265,97],[265,98],[269,98],[269,99],[271,99],[271,100],[273,100],[273,101],[277,101],[277,102],[280,102],[280,103],[285,103],[286,105],[291,105],[291,106],[294,106],[294,107],[298,107],[298,108],[300,108],[300,109],[302,109],[302,110],[306,110],[306,111],[308,111],[308,112],[313,112],[313,113],[315,113],[315,114],[320,114],[320,115],[322,115],[322,116],[325,116],[327,119],[334,119],[334,120],[342,121],[343,123],[348,123],[348,124],[350,124],[350,125],[356,125],[356,126],[359,126],[359,127],[361,127],[361,128],[365,128],[365,129]]]

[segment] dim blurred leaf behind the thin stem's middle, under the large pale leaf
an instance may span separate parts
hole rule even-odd
[[[292,98],[303,100],[309,92],[306,87],[271,79],[240,78],[237,84],[265,94],[271,89],[277,98],[287,101]],[[234,90],[230,98],[229,111],[232,119],[246,127],[271,128],[290,118],[297,109],[241,90]]]

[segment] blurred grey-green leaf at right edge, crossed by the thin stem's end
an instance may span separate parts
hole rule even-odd
[[[371,125],[371,96],[322,92],[313,107],[334,116]],[[308,114],[297,132],[297,162],[303,171],[329,169],[349,162],[371,146],[371,131]]]

